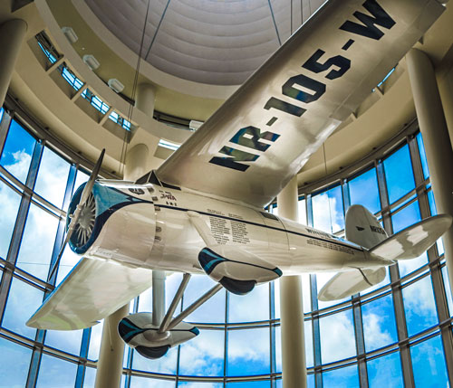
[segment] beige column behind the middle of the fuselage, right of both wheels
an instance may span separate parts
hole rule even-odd
[[[297,176],[277,196],[278,215],[297,221]],[[280,323],[284,388],[306,388],[304,307],[300,276],[280,278]]]

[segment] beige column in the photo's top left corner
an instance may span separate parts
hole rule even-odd
[[[5,102],[27,27],[22,19],[9,20],[0,25],[0,107]]]

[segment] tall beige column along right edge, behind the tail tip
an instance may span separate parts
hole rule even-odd
[[[453,150],[434,69],[427,54],[416,49],[410,50],[406,61],[436,206],[439,213],[453,215]],[[443,241],[453,289],[453,228],[444,234]]]

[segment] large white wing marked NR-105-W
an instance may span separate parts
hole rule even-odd
[[[263,207],[443,10],[436,0],[326,2],[157,176]]]

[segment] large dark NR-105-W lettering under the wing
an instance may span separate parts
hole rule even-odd
[[[360,35],[361,37],[379,41],[384,36],[384,32],[378,26],[390,30],[395,25],[395,21],[384,11],[376,0],[365,1],[363,7],[369,14],[356,11],[353,13],[353,16],[359,23],[347,20],[339,29],[353,35]],[[349,39],[342,46],[342,50],[347,51],[352,47],[354,42],[354,40]],[[305,70],[304,72],[310,74],[308,72],[310,71],[314,74],[319,74],[328,71],[324,78],[333,81],[341,78],[350,70],[350,59],[342,55],[335,55],[327,60],[322,60],[324,54],[325,52],[322,49],[317,49],[313,52],[313,55],[301,66]],[[295,75],[286,80],[282,85],[282,95],[304,104],[310,104],[320,99],[328,89],[326,83],[313,80],[313,78],[305,73]],[[270,97],[263,109],[276,109],[285,114],[300,118],[309,107],[302,108],[299,105],[284,101],[278,97]],[[266,112],[263,111],[263,113],[265,114]],[[277,120],[277,117],[271,117],[267,121],[266,126],[269,128],[272,127]],[[254,163],[262,155],[256,154],[254,151],[265,153],[280,136],[270,130],[263,130],[253,126],[240,128],[235,136],[229,139],[230,144],[218,150],[218,153],[224,156],[214,156],[209,160],[209,163],[244,172],[250,165],[241,162]],[[235,145],[246,147],[248,151],[237,149]]]

